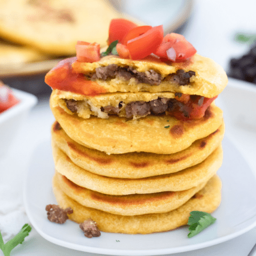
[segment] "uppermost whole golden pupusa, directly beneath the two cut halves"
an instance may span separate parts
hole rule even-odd
[[[55,119],[71,139],[107,154],[135,151],[173,154],[210,135],[223,121],[222,110],[213,104],[204,117],[187,122],[170,116],[146,116],[137,120],[118,116],[83,119],[76,114],[69,115],[59,106],[53,107],[52,98],[50,106]]]

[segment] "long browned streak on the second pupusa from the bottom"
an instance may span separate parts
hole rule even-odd
[[[134,195],[125,195],[125,196],[113,196],[113,195],[105,195],[95,191],[91,191],[91,197],[95,201],[100,201],[109,204],[117,204],[117,205],[140,205],[145,204],[147,202],[158,201],[164,198],[173,197],[177,192],[173,191],[165,191],[159,193],[147,194],[134,194]]]

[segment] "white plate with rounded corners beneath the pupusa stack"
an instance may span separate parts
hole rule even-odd
[[[45,206],[56,203],[51,189],[54,164],[50,141],[40,145],[28,171],[24,201],[29,220],[48,241],[78,251],[110,255],[162,255],[201,249],[228,241],[256,226],[256,180],[233,143],[225,136],[224,160],[218,171],[222,180],[221,205],[213,213],[214,225],[193,238],[188,227],[166,233],[125,235],[101,233],[97,238],[84,237],[77,223],[64,225],[46,218]]]

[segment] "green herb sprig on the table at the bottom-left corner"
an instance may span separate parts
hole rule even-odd
[[[15,235],[10,241],[4,244],[3,237],[0,231],[0,249],[3,251],[4,256],[10,256],[10,253],[14,247],[18,244],[22,244],[25,237],[28,236],[29,232],[31,231],[31,227],[28,224],[25,224],[20,232]]]

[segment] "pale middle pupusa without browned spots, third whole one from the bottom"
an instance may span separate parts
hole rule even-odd
[[[185,170],[142,179],[121,179],[105,177],[84,170],[75,165],[60,149],[53,148],[57,172],[78,186],[108,195],[149,194],[190,189],[209,180],[220,168],[222,158],[222,148],[219,146],[202,163]]]

